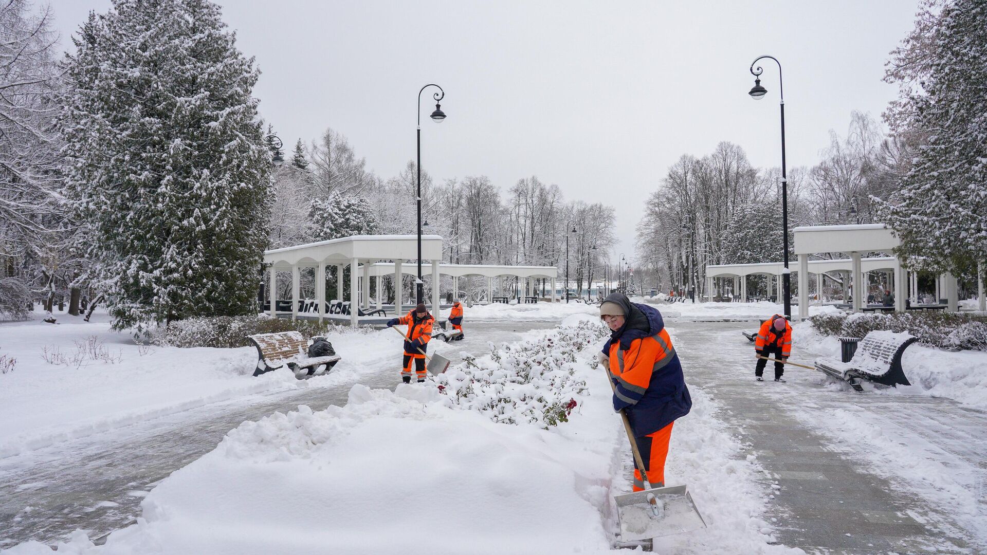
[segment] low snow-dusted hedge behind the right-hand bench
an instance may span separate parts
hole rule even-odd
[[[987,316],[945,311],[895,312],[893,314],[818,314],[809,318],[820,334],[864,337],[868,332],[908,332],[928,347],[987,351]]]

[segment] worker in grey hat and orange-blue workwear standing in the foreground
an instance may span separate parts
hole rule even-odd
[[[600,318],[611,332],[599,357],[615,386],[614,411],[624,409],[631,423],[648,483],[664,487],[672,425],[692,408],[682,365],[656,308],[613,293],[600,304]],[[644,489],[636,468],[634,491]]]

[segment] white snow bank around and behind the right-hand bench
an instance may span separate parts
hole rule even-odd
[[[793,336],[796,344],[804,345],[809,351],[840,359],[839,340],[819,334],[808,322],[797,323],[793,327]],[[901,367],[912,385],[881,387],[864,382],[864,387],[880,395],[947,397],[987,410],[987,352],[951,352],[913,344],[901,357]],[[836,381],[824,378],[822,373],[819,376],[820,379]]]

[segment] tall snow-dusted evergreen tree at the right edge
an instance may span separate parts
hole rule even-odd
[[[975,276],[987,259],[987,2],[944,8],[925,94],[910,129],[924,134],[902,190],[881,203],[911,268]]]

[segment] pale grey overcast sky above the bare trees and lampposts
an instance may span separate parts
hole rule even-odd
[[[615,253],[631,255],[643,200],[682,154],[727,140],[781,165],[778,68],[753,102],[748,68],[783,64],[788,163],[811,166],[850,113],[879,118],[895,89],[888,51],[916,0],[574,2],[222,0],[237,45],[257,57],[254,93],[285,145],[331,126],[388,178],[415,158],[436,182],[486,175],[502,196],[538,176],[567,199],[617,209]],[[65,48],[109,0],[53,0]],[[414,201],[407,198],[408,202]],[[628,256],[631,258],[631,256]]]

